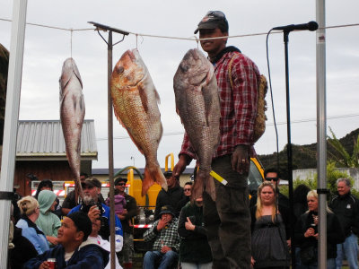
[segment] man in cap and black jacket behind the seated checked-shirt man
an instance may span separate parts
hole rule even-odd
[[[180,187],[180,177],[174,177],[172,171],[165,171],[163,173],[164,178],[167,181],[167,191],[163,188],[157,195],[156,199],[156,208],[154,209],[154,220],[160,218],[160,211],[163,205],[171,205],[173,208],[173,213],[178,218],[180,215],[180,210],[182,209],[180,201],[186,199],[186,196],[183,192],[183,187]]]

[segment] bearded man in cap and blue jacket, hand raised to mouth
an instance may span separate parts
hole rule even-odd
[[[87,213],[91,221],[101,219],[99,234],[102,239],[109,240],[109,207],[99,201],[101,182],[97,178],[87,178],[82,183],[83,203],[75,206],[70,213],[81,211]],[[123,233],[121,221],[115,215],[115,245],[116,252],[122,249]]]

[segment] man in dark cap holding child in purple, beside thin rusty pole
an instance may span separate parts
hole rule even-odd
[[[124,244],[122,252],[120,253],[123,260],[123,266],[125,269],[132,268],[132,257],[134,256],[134,231],[129,226],[132,218],[137,214],[137,204],[135,197],[127,195],[125,192],[127,183],[127,178],[116,178],[115,179],[115,188],[118,189],[118,194],[123,195],[126,200],[126,209],[118,215],[119,220],[122,224],[122,229],[124,231]]]

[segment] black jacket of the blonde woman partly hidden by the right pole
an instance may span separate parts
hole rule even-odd
[[[312,212],[303,213],[295,225],[294,238],[301,249],[313,246],[318,248],[318,240],[314,237],[305,238],[304,233],[313,223]],[[327,213],[327,258],[337,257],[337,244],[344,242],[345,237],[339,220],[334,213]]]

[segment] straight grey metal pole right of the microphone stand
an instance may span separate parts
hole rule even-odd
[[[325,0],[317,0],[317,154],[318,189],[327,188],[327,109],[326,109],[326,36]],[[327,268],[327,194],[319,192],[319,267]]]

